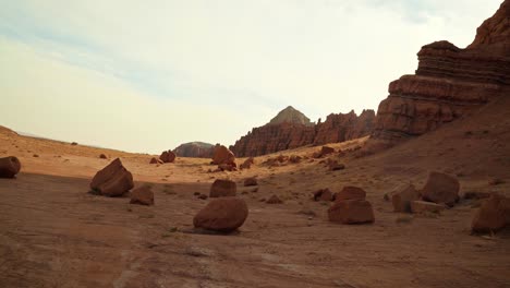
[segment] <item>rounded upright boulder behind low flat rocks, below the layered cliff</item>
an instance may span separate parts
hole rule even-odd
[[[457,178],[433,171],[422,190],[423,200],[453,206],[459,200],[460,184]]]

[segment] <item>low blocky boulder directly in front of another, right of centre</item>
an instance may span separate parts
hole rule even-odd
[[[328,218],[333,223],[364,224],[374,223],[374,209],[365,200],[347,200],[336,202],[328,209]]]

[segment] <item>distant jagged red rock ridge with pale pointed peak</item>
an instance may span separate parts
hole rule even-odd
[[[305,145],[323,145],[369,135],[375,127],[375,111],[363,110],[360,116],[331,113],[325,122],[309,121],[292,106],[281,110],[269,123],[254,128],[230,146],[238,157],[253,157]]]

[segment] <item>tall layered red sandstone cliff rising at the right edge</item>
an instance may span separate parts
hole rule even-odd
[[[510,87],[510,1],[465,49],[446,40],[422,47],[414,75],[389,84],[371,139],[398,143],[479,108]]]

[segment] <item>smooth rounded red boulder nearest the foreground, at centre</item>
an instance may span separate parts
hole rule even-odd
[[[244,224],[247,215],[248,208],[242,199],[214,199],[195,215],[193,225],[207,230],[231,232]]]

